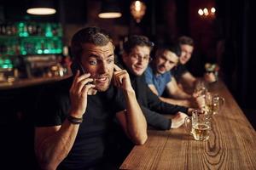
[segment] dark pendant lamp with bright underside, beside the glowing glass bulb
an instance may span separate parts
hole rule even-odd
[[[102,19],[114,19],[121,17],[122,14],[120,12],[118,2],[113,0],[103,1],[101,12],[98,16]]]

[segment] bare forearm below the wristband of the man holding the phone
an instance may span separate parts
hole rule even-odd
[[[55,169],[71,150],[79,125],[67,120],[51,136],[35,144],[39,165],[43,169]]]

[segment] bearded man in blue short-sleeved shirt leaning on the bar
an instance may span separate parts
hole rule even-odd
[[[177,86],[170,72],[177,65],[180,54],[181,49],[177,44],[159,47],[153,61],[145,71],[146,82],[152,92],[162,101],[192,106],[195,103],[194,98]],[[163,95],[164,92],[166,92],[165,95]]]

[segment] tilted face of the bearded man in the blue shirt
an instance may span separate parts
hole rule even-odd
[[[154,68],[157,74],[164,74],[166,71],[171,71],[171,69],[177,65],[178,57],[176,54],[169,50],[163,50],[156,55],[154,61]]]

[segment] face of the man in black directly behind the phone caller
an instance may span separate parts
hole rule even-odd
[[[123,54],[126,67],[135,76],[143,75],[150,60],[150,48],[148,46],[136,46],[130,54]]]

